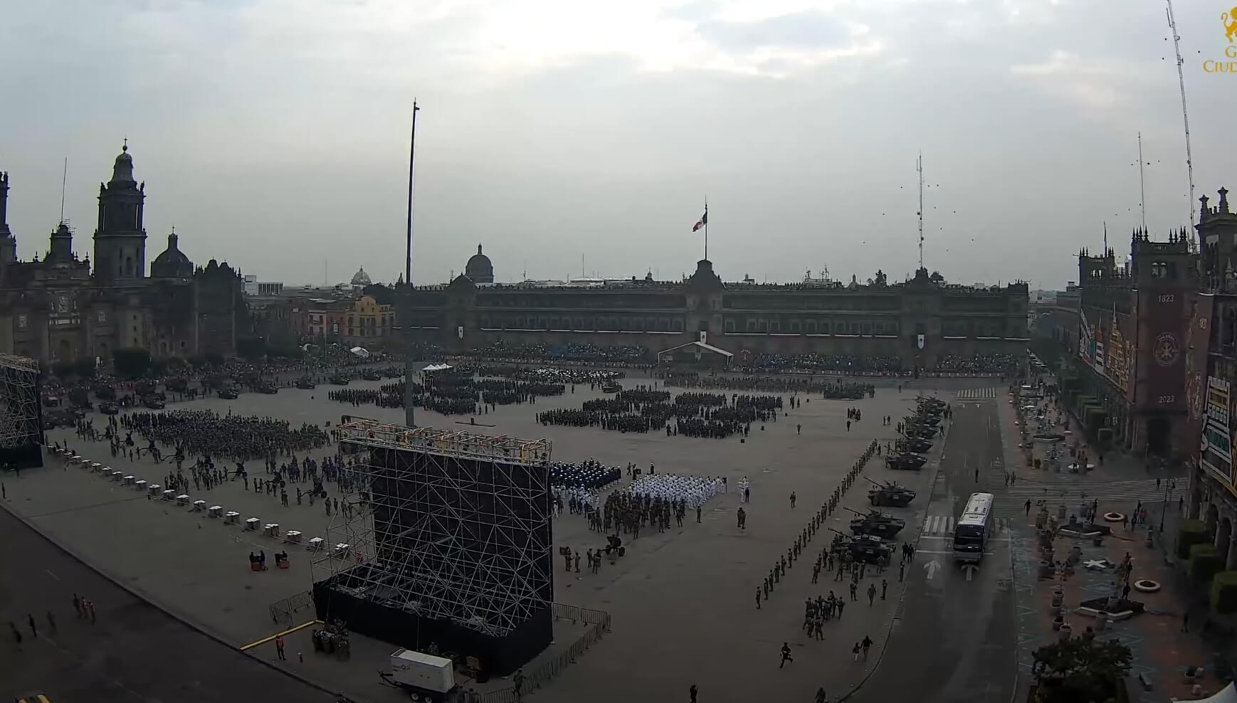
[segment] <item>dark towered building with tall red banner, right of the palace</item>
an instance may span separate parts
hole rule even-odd
[[[1069,401],[1092,441],[1185,455],[1184,339],[1199,280],[1186,230],[1129,239],[1129,260],[1079,254],[1076,382]]]

